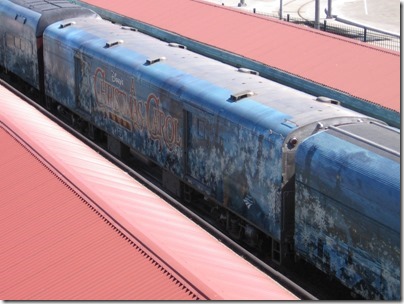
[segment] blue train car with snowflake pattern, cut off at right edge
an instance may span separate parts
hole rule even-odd
[[[340,126],[299,146],[295,250],[367,299],[401,298],[400,214],[399,130]]]

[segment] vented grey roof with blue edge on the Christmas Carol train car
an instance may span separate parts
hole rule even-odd
[[[177,94],[178,100],[194,101],[193,106],[215,114],[221,112],[238,120],[248,119],[264,129],[273,129],[275,124],[293,129],[340,117],[366,118],[341,106],[318,102],[315,96],[251,74],[249,70],[237,69],[181,47],[170,47],[169,43],[107,21],[76,19],[75,22],[66,28],[55,23],[46,30],[45,37],[79,50],[89,57],[87,60],[102,58],[106,65],[133,77],[160,81],[156,83],[158,88]],[[147,64],[159,58],[164,60]],[[243,92],[247,92],[247,98],[233,100]]]

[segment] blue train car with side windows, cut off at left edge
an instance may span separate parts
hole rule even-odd
[[[42,89],[42,35],[56,21],[77,16],[96,17],[68,1],[0,1],[0,65],[26,83]]]

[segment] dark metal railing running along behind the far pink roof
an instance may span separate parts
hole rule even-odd
[[[253,13],[279,19],[278,14],[263,13],[257,11],[256,9],[253,10]],[[283,20],[294,24],[301,24],[311,28],[317,28],[328,33],[348,37],[381,48],[400,52],[400,35],[363,26],[360,24],[355,24],[341,18],[335,18],[333,19],[333,22],[327,22],[327,19],[324,19],[323,22],[315,24],[314,20],[312,21],[296,17],[292,18],[289,14],[287,14],[286,18],[283,18]]]

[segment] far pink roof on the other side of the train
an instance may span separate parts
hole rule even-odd
[[[400,112],[400,54],[198,0],[84,0]]]

